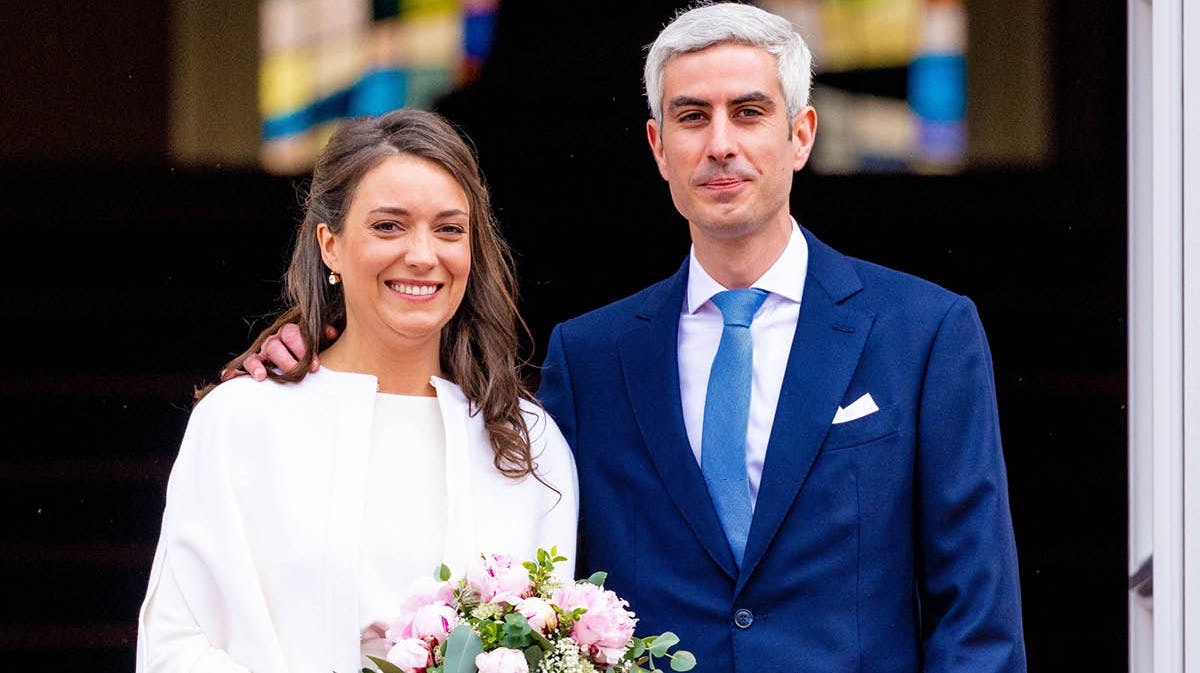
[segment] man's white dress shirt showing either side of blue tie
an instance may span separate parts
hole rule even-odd
[[[683,422],[696,462],[701,459],[704,437],[704,398],[708,395],[708,371],[721,342],[725,320],[712,302],[722,287],[696,260],[692,247],[688,270],[688,294],[679,317],[679,392]],[[784,369],[792,350],[796,322],[800,317],[800,295],[809,266],[809,244],[792,221],[792,234],[775,264],[750,287],[767,290],[767,300],[750,324],[754,344],[754,378],[750,386],[750,426],[746,428],[746,479],[750,501],[758,498],[762,465],[767,458],[767,440],[784,386]]]

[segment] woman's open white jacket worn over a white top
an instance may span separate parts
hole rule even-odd
[[[538,473],[560,495],[502,475],[462,390],[432,383],[446,482],[430,488],[446,491],[445,563],[458,575],[480,553],[529,559],[557,545],[570,576],[578,485],[558,427],[522,402]],[[355,569],[376,385],[330,369],[299,384],[241,378],[197,404],[138,618],[139,673],[360,671]],[[412,503],[394,530],[366,534],[403,535],[406,517],[431,516],[420,493]]]

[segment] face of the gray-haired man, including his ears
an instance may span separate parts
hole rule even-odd
[[[778,68],[770,53],[742,44],[667,61],[662,124],[652,119],[647,137],[694,241],[791,228],[792,173],[808,161],[816,113],[788,124]]]

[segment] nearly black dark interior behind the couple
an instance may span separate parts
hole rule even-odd
[[[276,307],[300,212],[300,181],[167,161],[163,5],[20,4],[0,17],[7,669],[132,671],[192,387]],[[686,254],[686,226],[646,148],[640,88],[641,47],[678,4],[629,5],[504,2],[481,79],[439,106],[479,148],[517,253],[534,362],[556,322],[668,275]],[[1048,19],[1054,137],[1043,166],[805,169],[792,206],[838,250],[977,302],[995,359],[1030,669],[1117,672],[1124,4],[1057,2]]]

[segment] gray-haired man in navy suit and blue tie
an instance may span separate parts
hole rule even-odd
[[[538,397],[578,465],[578,573],[610,571],[698,671],[1024,671],[983,329],[791,218],[817,126],[804,42],[701,6],[646,88],[692,250],[551,335]]]

